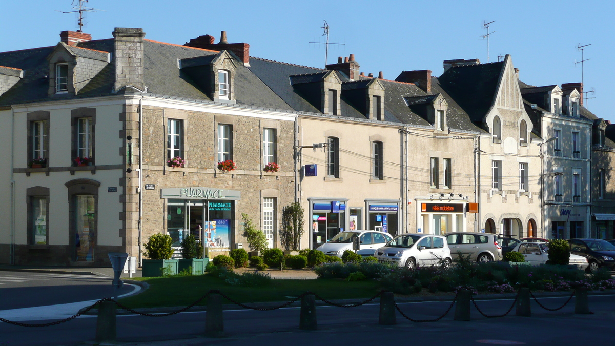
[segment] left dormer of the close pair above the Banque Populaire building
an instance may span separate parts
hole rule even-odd
[[[298,94],[327,115],[341,115],[342,82],[335,71],[293,74],[290,84]]]

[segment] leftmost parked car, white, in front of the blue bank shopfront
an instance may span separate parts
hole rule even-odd
[[[352,250],[352,241],[359,237],[359,251],[376,249],[389,242],[393,237],[386,232],[379,231],[345,231],[336,234],[327,243],[317,247],[318,251],[330,256],[342,257],[346,250]]]

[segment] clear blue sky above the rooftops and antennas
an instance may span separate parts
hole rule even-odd
[[[536,86],[581,81],[585,49],[585,91],[589,110],[615,122],[609,107],[609,81],[615,79],[615,1],[474,0],[474,1],[204,1],[90,0],[105,10],[87,14],[84,32],[93,39],[111,38],[115,26],[138,27],[146,38],[183,44],[199,35],[247,42],[250,55],[323,67],[323,20],[330,26],[329,63],[355,55],[360,70],[395,79],[403,70],[442,74],[442,61],[479,58],[487,61],[483,21],[495,20],[490,61],[512,55],[520,78]],[[62,30],[77,30],[71,0],[0,0],[0,51],[53,46]]]

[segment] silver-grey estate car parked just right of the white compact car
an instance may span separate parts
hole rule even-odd
[[[486,263],[492,260],[502,260],[502,246],[498,242],[498,236],[491,233],[475,232],[452,232],[446,233],[446,243],[451,248],[453,259],[459,258],[459,254],[470,260]]]

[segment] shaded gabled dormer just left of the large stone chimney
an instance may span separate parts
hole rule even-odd
[[[49,97],[74,96],[111,62],[111,54],[58,42],[47,61]]]

